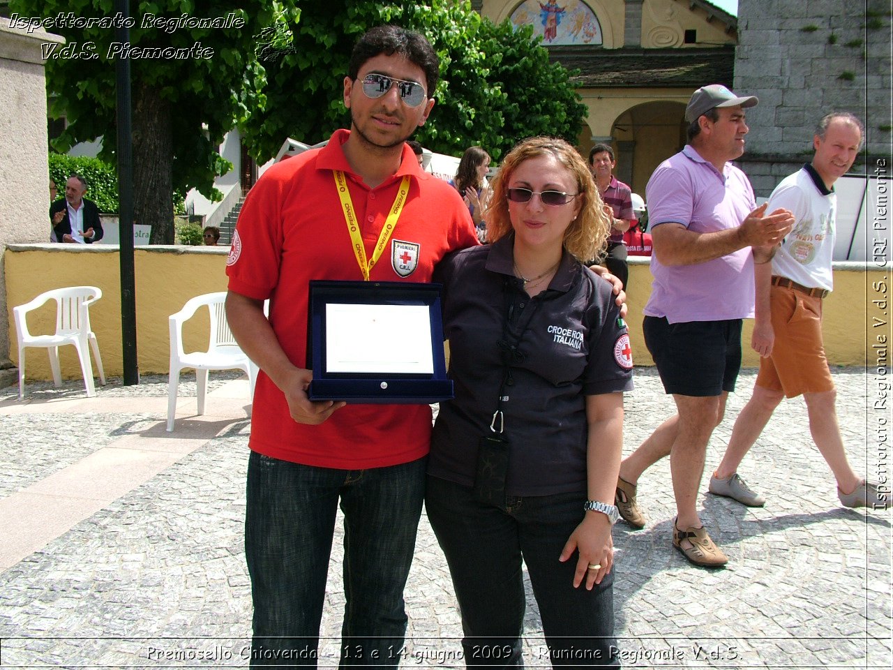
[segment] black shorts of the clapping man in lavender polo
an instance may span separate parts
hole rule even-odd
[[[646,316],[642,331],[667,393],[705,397],[735,390],[741,319],[670,323],[665,316]]]

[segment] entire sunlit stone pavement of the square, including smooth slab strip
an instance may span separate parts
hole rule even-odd
[[[840,369],[839,414],[851,461],[889,476],[889,408],[875,372]],[[752,389],[745,371],[714,434],[707,471]],[[188,379],[185,375],[184,379]],[[625,447],[666,416],[653,370],[627,396]],[[0,389],[0,667],[241,667],[250,634],[242,549],[247,381],[212,374],[208,415],[181,382],[164,432],[166,379],[120,380],[84,398],[69,381]],[[625,667],[889,668],[889,510],[839,507],[802,400],[784,403],[741,470],[764,508],[702,497],[730,556],[695,568],[671,547],[669,464],[639,484],[649,524],[614,532],[615,610]],[[889,484],[888,484],[889,486]],[[704,487],[705,488],[705,487]],[[337,665],[344,604],[336,540],[321,666]],[[548,666],[528,588],[528,666]],[[437,541],[423,519],[406,590],[403,667],[462,666],[461,625]]]

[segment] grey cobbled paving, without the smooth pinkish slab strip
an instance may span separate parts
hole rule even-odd
[[[707,472],[722,456],[754,377],[753,371],[744,373],[730,398],[708,451]],[[849,455],[861,464],[857,469],[870,467],[865,375],[835,371],[835,379]],[[636,383],[627,400],[627,453],[672,413],[672,400],[652,370],[637,370]],[[157,386],[165,395],[166,387]],[[138,392],[152,390],[146,383]],[[105,429],[94,431],[94,418],[72,416],[68,430],[85,442],[101,441]],[[48,424],[39,419],[4,417],[2,438],[17,423],[18,430],[39,432],[33,426]],[[105,417],[101,423],[107,427]],[[233,423],[204,448],[0,574],[2,666],[246,666],[247,435],[246,421]],[[57,440],[40,440],[47,449],[63,450]],[[655,465],[640,480],[647,528],[633,532],[621,522],[614,532],[623,665],[889,667],[889,511],[839,507],[830,471],[809,437],[802,401],[780,407],[741,474],[766,495],[766,507],[702,498],[702,518],[730,555],[729,567],[719,572],[697,569],[672,549],[669,464]],[[340,540],[339,530],[321,666],[337,665],[344,607]],[[528,601],[525,662],[548,666],[529,584]],[[449,574],[424,520],[406,607],[410,641],[401,665],[462,666],[456,660],[462,632]]]

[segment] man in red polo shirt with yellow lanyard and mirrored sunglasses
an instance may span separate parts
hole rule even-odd
[[[405,145],[427,120],[437,81],[438,58],[425,38],[395,26],[371,29],[344,80],[350,130],[264,172],[238,219],[227,316],[261,368],[246,491],[253,665],[315,665],[339,505],[342,663],[400,659],[430,407],[307,398],[307,282],[430,281],[444,255],[478,243],[455,188],[422,172]],[[395,214],[391,230],[386,222]]]

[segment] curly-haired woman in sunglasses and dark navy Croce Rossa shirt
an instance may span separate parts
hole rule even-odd
[[[531,138],[505,157],[492,244],[438,265],[455,399],[431,441],[428,516],[462,610],[468,665],[521,662],[522,559],[555,666],[618,666],[613,493],[630,338],[583,264],[605,245],[576,150]]]

